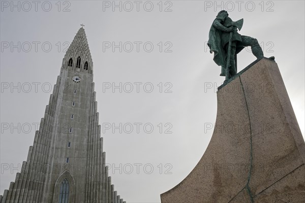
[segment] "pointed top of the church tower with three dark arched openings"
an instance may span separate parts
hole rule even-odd
[[[86,62],[87,64],[85,64]],[[63,69],[69,69],[71,67],[72,70],[92,73],[93,62],[83,25],[76,33],[63,60]]]

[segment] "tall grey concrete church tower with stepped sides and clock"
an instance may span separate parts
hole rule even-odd
[[[27,160],[0,202],[123,203],[108,177],[98,123],[93,62],[81,27],[63,59]]]

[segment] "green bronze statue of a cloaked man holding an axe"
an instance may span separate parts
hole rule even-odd
[[[236,22],[229,18],[227,11],[220,11],[214,20],[207,42],[210,53],[214,52],[213,60],[221,65],[220,76],[227,81],[237,74],[236,55],[245,47],[251,46],[252,53],[257,59],[264,57],[263,51],[255,38],[242,36],[237,32],[241,29],[243,19]],[[270,57],[274,59],[274,57]]]

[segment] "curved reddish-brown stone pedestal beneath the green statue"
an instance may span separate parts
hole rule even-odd
[[[162,203],[304,202],[305,143],[277,63],[254,61],[217,103],[205,153]]]

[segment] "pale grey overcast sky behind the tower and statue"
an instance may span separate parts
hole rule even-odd
[[[304,1],[139,1],[138,8],[134,1],[116,1],[121,11],[112,1],[31,2],[14,1],[19,6],[13,7],[1,1],[0,194],[26,160],[49,88],[81,23],[94,62],[106,162],[117,168],[109,174],[128,202],[160,202],[160,193],[192,171],[209,143],[212,129],[205,126],[216,120],[214,87],[224,77],[206,42],[220,10],[235,21],[243,18],[241,35],[257,38],[265,56],[276,57],[304,136]],[[238,70],[255,59],[243,50]],[[121,93],[106,88],[120,83]],[[113,133],[112,123],[125,125],[123,132]],[[134,123],[141,123],[139,133]]]

